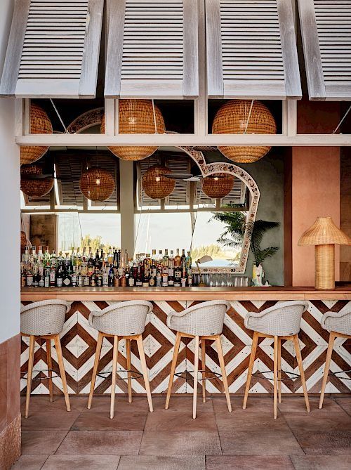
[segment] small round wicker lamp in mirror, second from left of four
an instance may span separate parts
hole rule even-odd
[[[102,168],[90,168],[81,175],[79,188],[84,196],[95,202],[103,202],[114,192],[114,178]]]

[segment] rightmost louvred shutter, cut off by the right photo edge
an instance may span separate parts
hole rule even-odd
[[[350,0],[299,0],[298,8],[310,100],[350,100]]]

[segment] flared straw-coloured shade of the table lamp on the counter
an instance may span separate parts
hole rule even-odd
[[[351,244],[351,238],[333,223],[331,217],[317,217],[298,240],[300,247],[310,244]]]

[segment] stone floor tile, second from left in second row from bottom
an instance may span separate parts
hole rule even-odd
[[[57,455],[137,455],[143,431],[69,431]]]

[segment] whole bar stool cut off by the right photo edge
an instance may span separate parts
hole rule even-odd
[[[328,380],[331,355],[333,353],[334,340],[336,338],[351,339],[351,310],[347,310],[345,312],[343,311],[326,312],[322,316],[321,325],[322,325],[322,328],[329,331],[330,335],[329,335],[328,350],[326,351],[326,363],[324,366],[321,396],[319,398],[319,408],[322,408],[323,406],[324,392],[326,390],[326,381]],[[341,374],[342,372],[351,372],[351,371],[350,370],[340,371],[340,372],[334,372],[333,374],[334,375]]]

